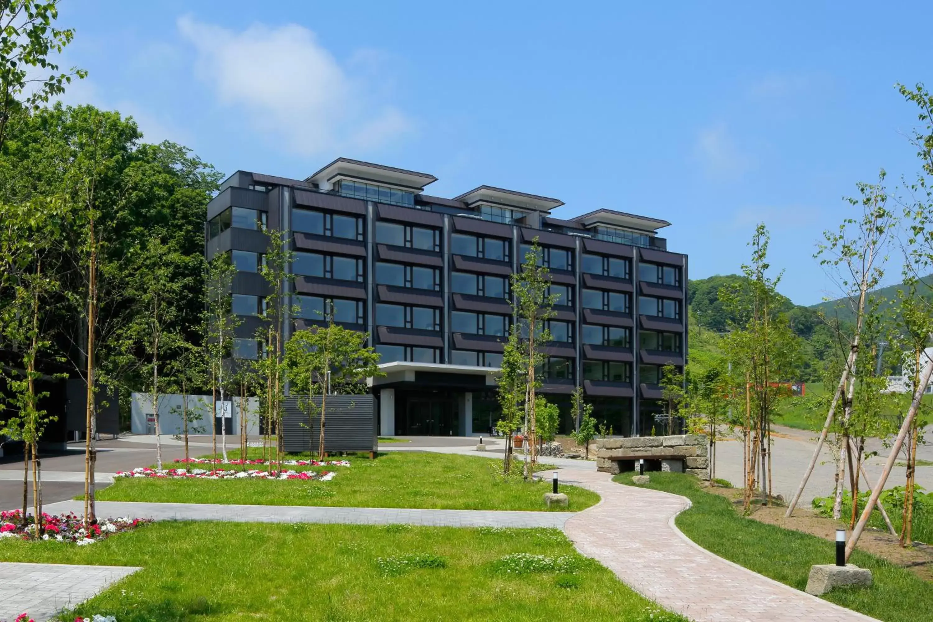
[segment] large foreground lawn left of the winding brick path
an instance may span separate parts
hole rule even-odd
[[[143,567],[66,620],[686,622],[557,530],[162,522],[91,546],[11,540],[0,560]],[[500,560],[515,553],[563,568],[509,574]]]

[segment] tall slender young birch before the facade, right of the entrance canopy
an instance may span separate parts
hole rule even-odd
[[[558,295],[549,293],[550,270],[543,265],[542,256],[541,247],[535,238],[531,249],[524,256],[522,269],[511,275],[512,312],[522,327],[523,346],[528,357],[528,396],[524,401],[528,449],[525,450],[525,455],[530,456],[532,468],[537,463],[535,370],[542,365],[546,356],[543,350],[550,341],[550,330],[546,323],[554,315],[552,308],[558,298]],[[525,330],[526,336],[523,334]],[[525,469],[524,476],[531,477],[528,468]]]

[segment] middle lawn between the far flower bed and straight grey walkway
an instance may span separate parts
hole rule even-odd
[[[351,463],[348,467],[313,467],[336,471],[337,476],[330,481],[118,478],[112,486],[99,491],[97,498],[161,503],[544,510],[542,498],[550,492],[550,482],[522,481],[518,475],[521,464],[512,469],[512,477],[503,477],[502,461],[489,458],[394,451],[380,454],[376,460],[354,457]],[[561,491],[569,497],[570,505],[565,509],[570,511],[599,501],[595,492],[574,486],[562,486]]]

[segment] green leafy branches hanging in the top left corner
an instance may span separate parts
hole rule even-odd
[[[72,28],[57,28],[57,19],[57,0],[0,3],[0,149],[11,118],[48,104],[49,98],[64,92],[72,77],[88,75],[77,67],[57,73],[52,54],[61,53],[75,36]],[[45,77],[49,72],[53,73]]]

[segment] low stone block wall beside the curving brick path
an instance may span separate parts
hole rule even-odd
[[[708,479],[706,435],[631,436],[596,441],[596,470],[618,475],[645,460],[646,471],[661,471],[661,461],[680,460],[684,473]]]

